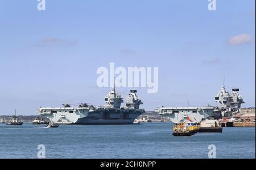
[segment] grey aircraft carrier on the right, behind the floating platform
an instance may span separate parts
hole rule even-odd
[[[218,106],[205,107],[156,107],[155,111],[164,117],[170,118],[174,123],[194,122],[199,123],[205,118],[231,118],[241,110],[241,104],[245,103],[243,97],[238,94],[239,89],[232,89],[229,93],[225,89],[225,77],[221,90],[215,96]]]

